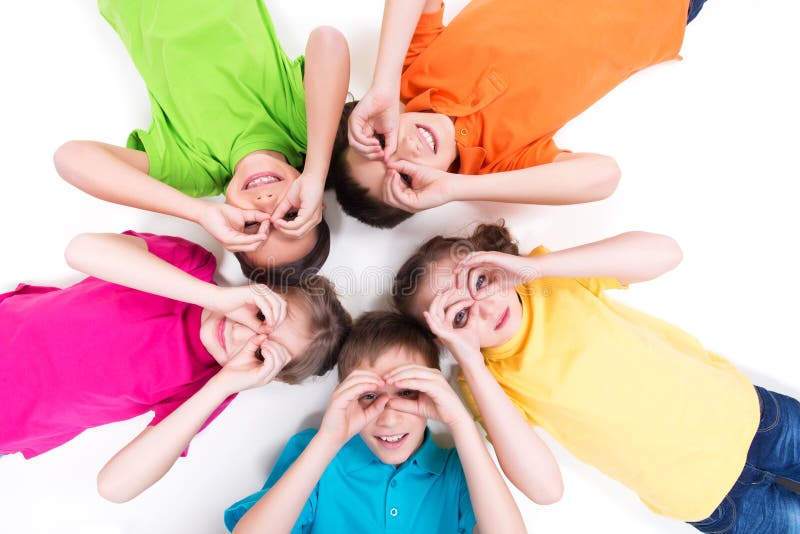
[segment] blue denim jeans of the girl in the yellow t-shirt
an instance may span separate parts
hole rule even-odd
[[[707,519],[708,534],[800,532],[800,495],[776,478],[800,482],[800,402],[756,387],[761,421],[733,489]]]

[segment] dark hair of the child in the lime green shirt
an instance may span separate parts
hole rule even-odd
[[[270,287],[288,287],[302,284],[302,281],[316,275],[325,265],[331,251],[331,229],[323,217],[316,226],[317,242],[311,251],[293,262],[285,265],[258,266],[252,263],[243,252],[234,255],[239,260],[239,267],[248,279]]]

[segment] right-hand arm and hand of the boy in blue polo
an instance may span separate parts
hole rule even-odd
[[[450,429],[467,480],[476,528],[482,532],[525,532],[525,524],[508,486],[489,456],[475,423],[441,371],[405,365],[386,376],[386,382],[419,392],[416,399],[393,398],[389,407],[436,419]],[[531,460],[529,457],[528,461]]]

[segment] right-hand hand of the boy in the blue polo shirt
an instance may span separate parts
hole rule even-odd
[[[447,383],[442,372],[422,365],[403,365],[384,375],[387,384],[418,392],[413,396],[392,398],[387,406],[394,410],[436,419],[453,427],[472,421],[456,392]]]

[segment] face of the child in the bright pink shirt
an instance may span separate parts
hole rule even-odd
[[[308,321],[299,313],[302,306],[293,306],[290,299],[291,295],[287,295],[286,319],[268,337],[286,347],[294,361],[308,349],[311,335]],[[204,309],[200,318],[200,340],[220,365],[225,365],[256,334],[249,327],[209,309]]]

